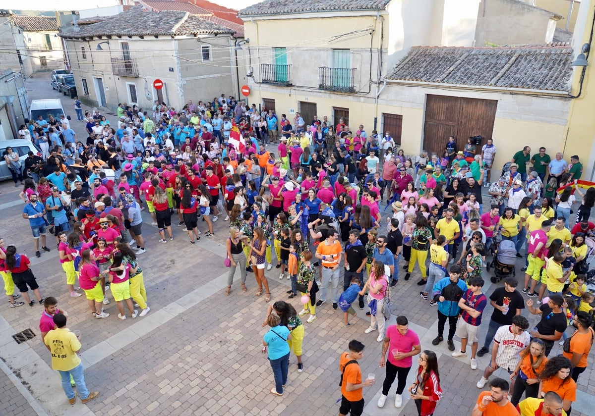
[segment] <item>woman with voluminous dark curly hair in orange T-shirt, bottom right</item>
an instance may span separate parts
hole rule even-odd
[[[556,392],[562,399],[562,409],[570,413],[572,402],[577,399],[577,383],[572,380],[572,363],[566,357],[552,357],[540,374],[537,397],[547,392]]]

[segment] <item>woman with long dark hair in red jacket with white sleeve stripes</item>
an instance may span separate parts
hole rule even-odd
[[[431,416],[442,397],[438,358],[434,351],[426,349],[419,354],[418,361],[417,377],[409,387],[409,393],[415,401],[418,416]]]

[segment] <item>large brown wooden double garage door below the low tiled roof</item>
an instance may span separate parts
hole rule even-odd
[[[486,143],[494,130],[497,100],[428,95],[425,105],[424,149],[442,155],[449,136],[459,150],[467,139],[483,135]]]

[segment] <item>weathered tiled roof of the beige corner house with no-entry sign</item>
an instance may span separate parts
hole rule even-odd
[[[79,31],[68,32],[61,36],[81,38],[107,35],[181,35],[233,32],[233,29],[189,14],[189,12],[170,10],[157,12],[146,10],[142,6],[135,6],[129,11],[109,17],[106,21],[89,24],[81,27]]]

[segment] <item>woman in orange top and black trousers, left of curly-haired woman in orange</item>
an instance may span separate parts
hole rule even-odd
[[[513,384],[511,403],[518,405],[521,396],[537,398],[539,393],[540,374],[547,364],[546,346],[541,339],[533,339],[527,348],[519,352],[521,360],[516,364],[515,371],[511,374]]]

